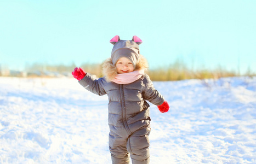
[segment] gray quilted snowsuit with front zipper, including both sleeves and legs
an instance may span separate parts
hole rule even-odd
[[[90,74],[79,81],[96,95],[109,97],[109,149],[113,163],[149,163],[149,101],[156,106],[164,102],[147,74],[130,84],[116,84],[105,77]]]

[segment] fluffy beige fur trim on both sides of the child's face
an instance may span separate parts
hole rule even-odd
[[[136,63],[134,71],[137,71],[139,69],[146,69],[149,67],[147,60],[144,56],[140,55],[139,62]],[[117,74],[116,66],[113,65],[111,58],[107,58],[103,62],[103,75],[107,82],[112,81],[113,78],[115,78],[115,75]]]

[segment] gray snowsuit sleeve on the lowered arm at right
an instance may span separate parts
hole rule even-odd
[[[164,98],[153,86],[153,83],[150,80],[149,75],[145,74],[143,83],[145,85],[143,97],[152,104],[160,106],[164,102]]]

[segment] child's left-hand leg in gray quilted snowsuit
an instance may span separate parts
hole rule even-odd
[[[122,138],[117,134],[109,134],[109,150],[113,164],[129,164],[130,154],[126,148],[127,138]]]

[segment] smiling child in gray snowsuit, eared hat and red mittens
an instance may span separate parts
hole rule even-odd
[[[169,105],[153,87],[144,70],[147,62],[139,53],[138,37],[110,40],[111,58],[103,63],[103,78],[94,79],[82,68],[75,68],[74,78],[96,95],[109,97],[109,149],[112,163],[149,163],[150,113],[149,101],[160,112],[168,112]]]

